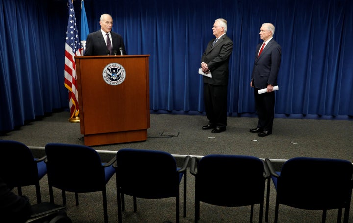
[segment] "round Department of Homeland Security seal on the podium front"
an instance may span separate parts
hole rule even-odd
[[[109,85],[119,85],[125,79],[125,69],[119,63],[109,63],[103,69],[103,79]]]

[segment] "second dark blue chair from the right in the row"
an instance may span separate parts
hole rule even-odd
[[[200,219],[200,202],[239,207],[260,204],[262,222],[265,181],[270,173],[264,161],[252,156],[206,155],[191,158],[190,173],[195,176],[195,223]]]

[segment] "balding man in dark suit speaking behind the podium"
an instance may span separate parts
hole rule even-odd
[[[121,52],[126,55],[122,36],[111,31],[113,26],[112,17],[109,14],[101,15],[100,25],[100,30],[87,36],[85,56],[121,55]]]

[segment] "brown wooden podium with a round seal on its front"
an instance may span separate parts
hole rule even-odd
[[[75,56],[84,144],[146,141],[149,55]]]

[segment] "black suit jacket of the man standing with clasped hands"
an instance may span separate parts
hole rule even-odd
[[[203,82],[227,86],[229,81],[229,58],[233,51],[233,41],[224,34],[212,47],[212,39],[201,57],[211,71],[212,78],[203,76]]]

